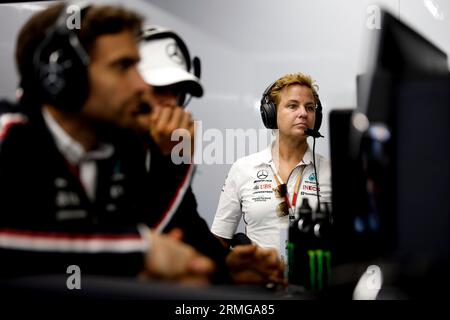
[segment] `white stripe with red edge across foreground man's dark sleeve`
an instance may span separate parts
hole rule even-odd
[[[0,231],[0,248],[73,253],[127,253],[144,252],[148,248],[148,244],[139,236],[126,238],[58,238]]]

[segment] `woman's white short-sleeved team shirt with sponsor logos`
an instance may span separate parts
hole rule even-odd
[[[277,181],[275,163],[272,159],[272,146],[261,152],[237,160],[231,167],[222,189],[216,216],[211,227],[215,235],[231,239],[241,218],[246,225],[245,232],[253,243],[264,248],[281,251],[282,241],[289,224],[289,217],[278,217],[277,206],[283,200],[275,196]],[[319,176],[320,202],[331,202],[330,163],[316,154],[316,169]],[[302,173],[303,171],[303,173]],[[312,150],[307,148],[300,161],[290,174],[287,184],[289,202],[292,203],[297,177],[301,174],[297,195],[297,212],[303,198],[308,198],[313,210],[317,208],[316,180]],[[280,238],[281,237],[281,238]]]

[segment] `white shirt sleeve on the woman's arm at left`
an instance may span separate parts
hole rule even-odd
[[[224,239],[233,238],[242,217],[241,199],[237,181],[239,176],[239,168],[235,163],[225,179],[216,215],[211,227],[212,233]]]

